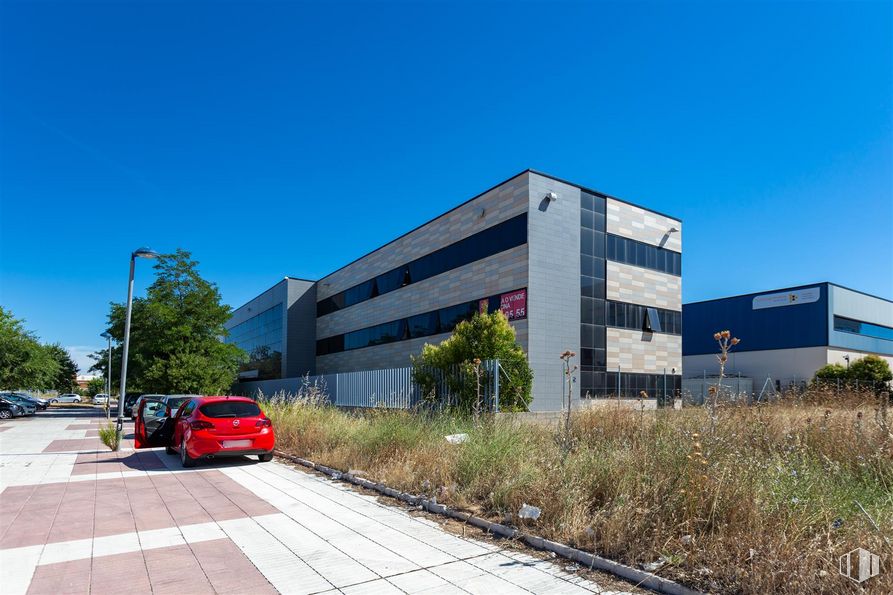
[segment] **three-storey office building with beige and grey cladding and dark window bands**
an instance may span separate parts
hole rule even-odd
[[[525,170],[315,284],[286,278],[236,311],[227,340],[256,352],[257,379],[401,367],[499,308],[534,371],[531,409],[560,408],[568,349],[578,398],[671,395],[681,253],[678,218]]]

